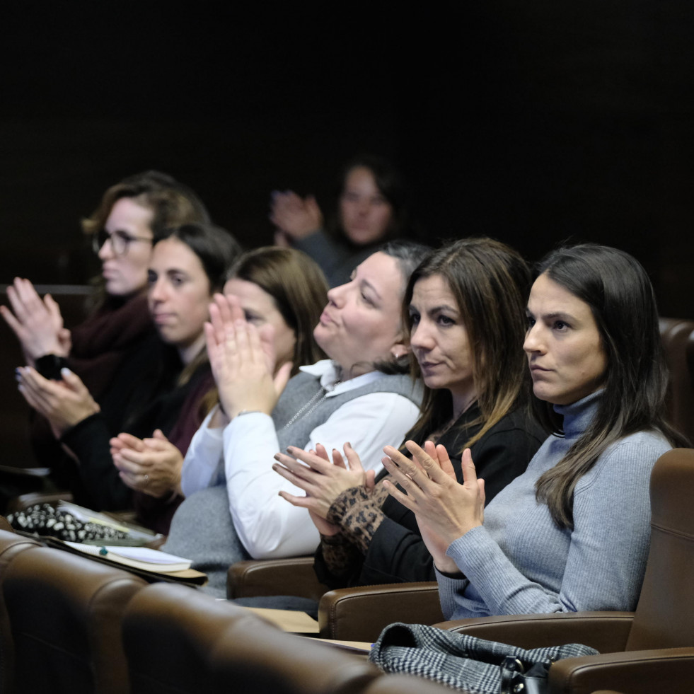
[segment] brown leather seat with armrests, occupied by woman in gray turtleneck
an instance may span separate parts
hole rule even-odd
[[[661,456],[650,489],[651,547],[635,613],[515,615],[439,626],[524,648],[579,642],[601,651],[553,664],[550,692],[691,691],[694,450]]]

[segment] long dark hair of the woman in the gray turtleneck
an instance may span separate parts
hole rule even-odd
[[[546,502],[555,523],[573,528],[576,483],[608,446],[647,430],[661,432],[673,446],[688,446],[688,441],[664,417],[668,371],[655,294],[640,262],[623,250],[586,243],[549,253],[538,271],[588,304],[607,355],[593,421],[536,483],[537,498]],[[546,427],[562,433],[561,417],[550,403],[533,398],[533,409]]]

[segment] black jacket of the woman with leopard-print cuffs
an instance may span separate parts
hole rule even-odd
[[[462,415],[465,422],[473,422],[479,416],[478,407],[472,407]],[[438,441],[451,455],[458,482],[463,482],[458,451],[479,430],[480,424],[463,427],[458,429],[458,433],[444,433]],[[526,412],[516,410],[497,422],[470,447],[478,478],[485,480],[487,503],[525,471],[545,438],[545,432],[529,419]],[[383,476],[379,475],[379,478]],[[323,557],[326,541],[333,544],[336,540],[326,538],[321,542],[314,564],[320,582],[331,588],[340,588],[436,580],[434,562],[420,536],[415,514],[390,496],[386,497],[381,511],[385,517],[371,537],[366,555],[350,543],[349,559],[346,560],[349,564],[343,572],[332,573]]]

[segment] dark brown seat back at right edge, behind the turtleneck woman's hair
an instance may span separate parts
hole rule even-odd
[[[694,320],[661,318],[660,337],[670,369],[669,420],[694,444]]]

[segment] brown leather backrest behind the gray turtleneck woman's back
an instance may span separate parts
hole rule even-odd
[[[694,450],[664,453],[650,490],[651,546],[628,651],[694,645]]]

